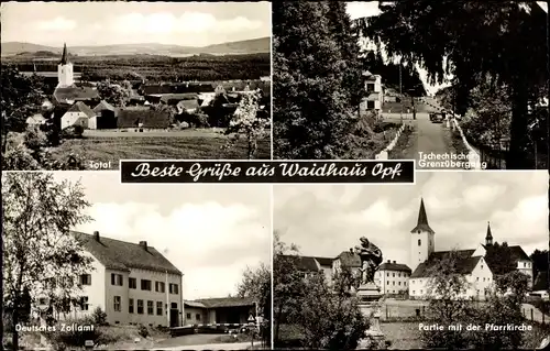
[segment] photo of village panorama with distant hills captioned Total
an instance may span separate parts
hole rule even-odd
[[[271,158],[270,2],[4,2],[2,169]]]

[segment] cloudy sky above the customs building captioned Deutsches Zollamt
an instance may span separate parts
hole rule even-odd
[[[184,273],[184,298],[235,294],[246,266],[271,263],[270,185],[120,184],[118,172],[57,172],[80,179],[95,221],[76,230],[147,241]]]

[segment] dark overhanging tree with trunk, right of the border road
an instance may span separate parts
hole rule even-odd
[[[464,114],[471,92],[487,76],[510,105],[506,167],[528,168],[528,103],[548,96],[547,13],[536,2],[405,0],[380,6],[358,21],[362,35],[389,56],[420,64],[431,83],[452,75],[455,111]]]

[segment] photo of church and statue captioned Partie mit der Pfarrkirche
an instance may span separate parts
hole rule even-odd
[[[538,348],[548,182],[421,172],[415,185],[274,185],[274,348]]]

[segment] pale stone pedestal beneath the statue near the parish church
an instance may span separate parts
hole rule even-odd
[[[380,290],[380,287],[374,283],[363,284],[358,289],[359,308],[370,322],[370,327],[365,331],[367,337],[360,341],[358,349],[370,349],[372,343],[378,344],[384,340],[384,333],[380,329],[382,298]]]

